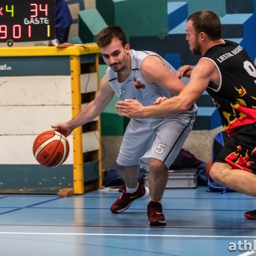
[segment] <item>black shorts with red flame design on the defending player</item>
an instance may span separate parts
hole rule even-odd
[[[256,174],[256,123],[241,126],[225,142],[215,162]]]

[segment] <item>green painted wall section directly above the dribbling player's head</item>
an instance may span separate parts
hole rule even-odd
[[[96,0],[108,25],[122,27],[127,36],[168,33],[167,0]]]

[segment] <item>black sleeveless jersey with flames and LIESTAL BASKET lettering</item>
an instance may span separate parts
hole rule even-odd
[[[206,91],[213,98],[227,133],[241,125],[256,122],[256,66],[236,42],[224,40],[214,45],[202,58],[214,62],[219,72],[218,89],[210,84]]]

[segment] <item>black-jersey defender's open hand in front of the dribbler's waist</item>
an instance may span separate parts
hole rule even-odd
[[[115,105],[118,115],[129,118],[143,118],[143,105],[136,99],[117,101]]]

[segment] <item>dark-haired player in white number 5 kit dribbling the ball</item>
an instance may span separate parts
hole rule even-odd
[[[130,49],[121,28],[102,29],[96,42],[109,67],[100,81],[95,99],[73,119],[52,125],[63,135],[67,136],[74,128],[92,121],[114,93],[121,100],[137,99],[148,106],[154,104],[157,97],[170,98],[184,88],[184,83],[176,77],[176,70],[158,54]],[[134,118],[129,121],[116,160],[125,186],[119,189],[122,195],[111,205],[111,212],[121,213],[134,200],[145,199],[149,195],[149,225],[166,225],[161,198],[168,180],[168,168],[192,129],[196,109],[193,104],[186,112],[173,117]],[[149,172],[150,192],[138,183],[139,166]]]

